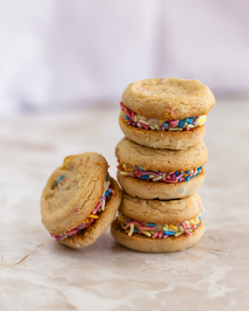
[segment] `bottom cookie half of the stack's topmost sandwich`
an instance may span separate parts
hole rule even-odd
[[[197,144],[205,134],[204,124],[189,131],[157,131],[136,128],[128,125],[124,118],[119,117],[119,125],[127,138],[139,145],[150,148],[185,149]]]

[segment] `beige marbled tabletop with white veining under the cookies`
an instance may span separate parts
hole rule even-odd
[[[138,253],[108,231],[72,250],[49,237],[40,219],[46,179],[64,156],[87,150],[101,152],[115,176],[114,147],[123,136],[117,114],[118,107],[2,120],[0,310],[248,310],[246,101],[217,100],[207,119],[199,191],[206,232],[194,247]]]

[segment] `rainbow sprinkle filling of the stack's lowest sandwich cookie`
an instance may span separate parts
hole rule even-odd
[[[166,239],[169,235],[177,237],[185,233],[192,235],[191,232],[199,226],[201,220],[201,214],[199,214],[193,219],[185,220],[180,223],[157,225],[155,223],[129,218],[123,215],[120,211],[118,217],[120,221],[120,228],[123,229],[128,236],[131,236],[132,234],[140,234],[146,235],[153,239]]]

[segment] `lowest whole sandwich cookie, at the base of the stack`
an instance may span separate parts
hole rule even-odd
[[[204,233],[197,193],[179,200],[145,200],[123,193],[119,216],[111,225],[115,240],[140,252],[180,251]]]

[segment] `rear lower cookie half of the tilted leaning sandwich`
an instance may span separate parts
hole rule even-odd
[[[121,190],[115,179],[110,178],[111,187],[115,191],[108,198],[105,210],[101,211],[99,218],[93,222],[82,233],[73,234],[66,239],[60,240],[59,243],[71,248],[82,248],[91,245],[96,239],[110,227],[112,220],[116,216],[116,212],[121,202]]]

